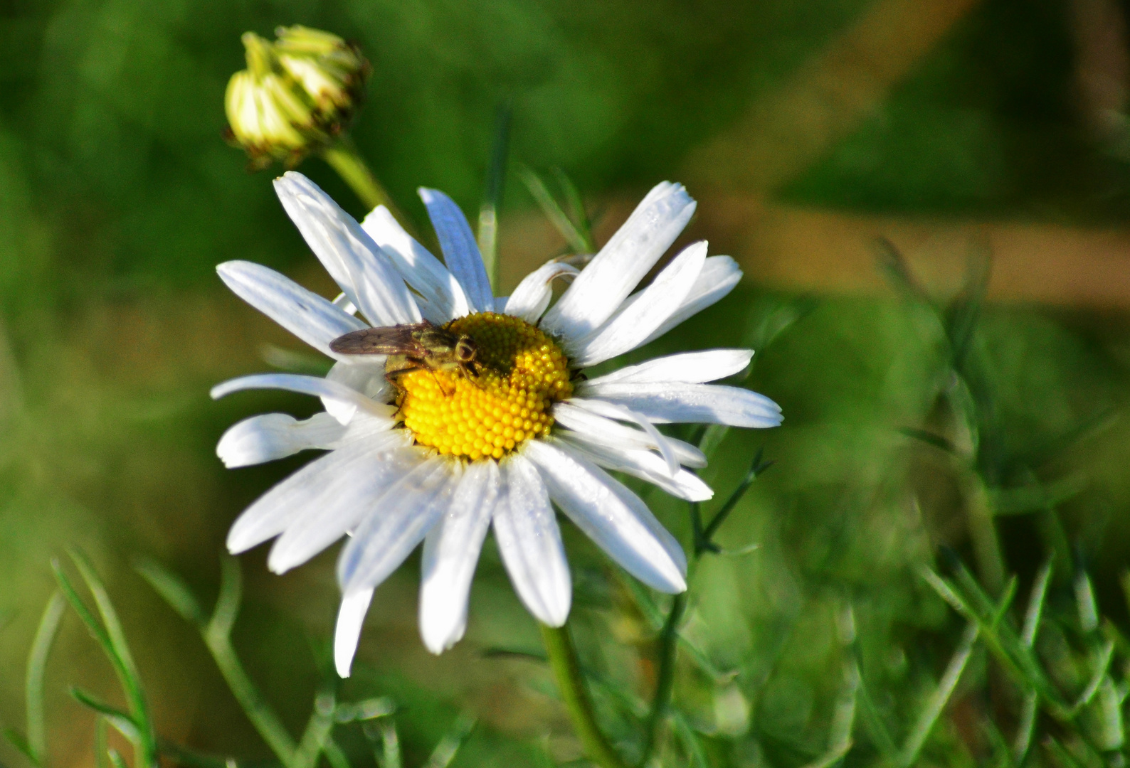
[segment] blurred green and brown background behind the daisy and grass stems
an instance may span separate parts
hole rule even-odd
[[[1053,634],[1059,645],[1042,653],[1061,664],[1071,654],[1086,658],[1094,637],[1072,618],[1077,569],[1094,579],[1110,636],[1130,627],[1119,583],[1130,552],[1130,250],[1120,246],[1106,262],[1122,276],[1103,286],[1113,300],[1037,305],[1022,297],[980,312],[970,311],[980,307],[976,289],[959,294],[960,274],[936,279],[928,252],[912,260],[927,289],[939,305],[957,296],[942,312],[947,340],[937,314],[906,298],[913,289],[901,293],[897,280],[862,294],[810,289],[802,278],[765,281],[758,254],[741,252],[733,233],[756,226],[766,204],[832,211],[844,221],[883,215],[1040,224],[1084,243],[1095,228],[1121,233],[1130,213],[1125,7],[7,0],[0,724],[23,727],[24,664],[54,584],[49,562],[77,544],[107,579],[162,734],[241,760],[270,757],[199,637],[133,566],[153,558],[209,603],[231,522],[308,461],[225,471],[214,448],[227,426],[268,410],[305,416],[314,404],[281,393],[207,396],[218,381],[267,368],[262,344],[301,347],[223,289],[218,262],[260,262],[331,291],[273,195],[273,173],[247,174],[246,158],[221,140],[224,87],[244,66],[240,34],[269,36],[279,24],[360,44],[374,73],[353,136],[418,221],[420,185],[477,211],[495,112],[512,99],[511,167],[562,167],[605,236],[623,220],[625,201],[671,178],[701,201],[686,237],[711,237],[713,253],[738,248],[742,286],[647,350],[754,346],[747,384],[785,414],[779,429],[729,434],[705,470],[718,491],[706,505],[713,510],[758,448],[776,462],[719,535],[725,548],[759,549],[707,557],[695,575],[684,629],[695,651],[680,656],[676,701],[680,722],[697,735],[685,743],[672,736],[664,765],[819,760],[834,747],[828,734],[842,710],[845,660],[857,651],[871,715],[857,717],[862,725],[845,759],[881,761],[881,728],[872,721],[902,743],[960,635],[960,619],[919,568],[935,565],[946,544],[985,581],[976,518],[986,508],[1022,594],[1038,565],[1058,558],[1049,605],[1059,606],[1061,631]],[[320,160],[302,171],[364,213]],[[727,227],[711,224],[712,201],[725,201]],[[504,289],[564,247],[513,173],[502,230]],[[941,261],[964,264],[979,243],[959,241]],[[832,248],[819,258],[835,256]],[[802,273],[816,256],[782,258]],[[1054,258],[1052,246],[1035,247],[1025,265],[1052,273]],[[1086,282],[1087,261],[1079,263],[1075,279]],[[880,270],[866,269],[879,285]],[[1008,291],[990,286],[990,296]],[[956,365],[955,316],[973,318],[971,351]],[[975,401],[973,417],[955,405],[965,392]],[[925,431],[948,448],[912,436]],[[689,546],[686,506],[658,492],[647,500]],[[565,533],[573,622],[586,663],[603,675],[605,723],[631,751],[638,740],[632,702],[646,701],[654,684],[651,603],[634,597],[575,530]],[[263,549],[241,558],[246,594],[235,642],[297,734],[324,677],[338,600],[334,552],[275,577]],[[521,655],[541,653],[537,629],[493,544],[479,565],[468,637],[441,657],[428,655],[416,632],[417,573],[414,558],[379,591],[358,671],[341,696],[397,701],[408,766],[423,763],[461,712],[479,724],[453,765],[576,760],[544,664]],[[1024,602],[1008,620],[1020,620]],[[845,629],[849,608],[854,635]],[[998,726],[990,724],[1012,728],[1019,695],[989,658],[977,646],[919,759],[998,760]],[[1114,670],[1127,658],[1120,646],[1110,677],[1123,698]],[[1089,667],[1079,664],[1078,679],[1057,673],[1067,696],[1087,679]],[[72,614],[47,667],[54,766],[94,761],[94,718],[68,696],[70,684],[121,700]],[[1075,743],[1071,727],[1042,715],[1027,760],[1069,765],[1040,741],[1044,734]],[[1097,747],[1078,740],[1084,745],[1071,748],[1071,759],[1122,765],[1123,744],[1113,736]],[[354,765],[373,763],[359,728],[341,728],[339,741]],[[702,754],[692,753],[692,742]],[[7,768],[24,760],[0,747]]]

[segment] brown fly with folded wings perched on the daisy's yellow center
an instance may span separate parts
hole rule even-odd
[[[331,341],[330,349],[341,355],[388,355],[384,377],[398,389],[402,387],[397,379],[414,370],[459,370],[468,378],[478,374],[475,339],[427,321],[346,333]]]

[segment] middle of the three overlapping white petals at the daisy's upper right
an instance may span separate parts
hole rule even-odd
[[[642,344],[686,298],[703,262],[706,242],[688,245],[647,286],[629,308],[597,329],[592,335],[568,342],[574,365],[592,366]]]

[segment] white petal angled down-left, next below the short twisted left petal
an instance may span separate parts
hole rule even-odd
[[[411,437],[392,430],[349,443],[315,459],[279,482],[247,507],[227,533],[227,549],[233,555],[257,547],[282,533],[299,515],[336,492],[340,478],[354,468],[366,465],[374,454],[407,448]]]

